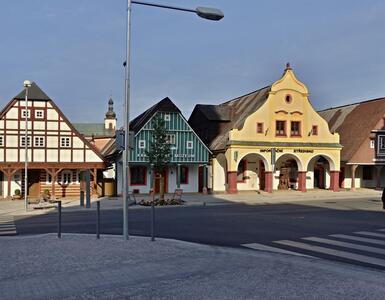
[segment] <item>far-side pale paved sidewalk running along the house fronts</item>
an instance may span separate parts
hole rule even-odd
[[[172,194],[166,195],[171,198]],[[150,199],[149,195],[136,195],[136,201],[142,199]],[[264,205],[264,204],[282,204],[301,202],[306,205],[319,206],[320,201],[339,203],[341,199],[367,199],[370,202],[365,202],[362,205],[354,205],[351,209],[366,209],[366,210],[378,210],[378,203],[375,203],[381,198],[381,191],[372,189],[357,189],[356,191],[340,191],[338,193],[327,190],[309,190],[306,193],[298,191],[275,191],[272,194],[265,192],[240,192],[239,194],[184,194],[183,200],[185,205],[217,205],[217,204],[232,204],[232,203],[244,203],[248,205]],[[91,209],[96,209],[96,202],[101,201],[103,209],[121,209],[122,198],[121,197],[103,197],[91,199]],[[131,199],[133,204],[134,200]],[[325,203],[324,203],[325,204]],[[327,204],[327,203],[326,203]],[[343,204],[343,202],[341,202]],[[22,216],[22,215],[39,215],[55,211],[56,205],[51,205],[53,208],[46,209],[33,209],[36,205],[30,205],[27,212],[24,210],[24,202],[22,200],[0,200],[0,216]],[[79,199],[63,199],[62,207],[66,211],[78,211],[87,210],[85,207],[80,207]],[[131,206],[134,208],[145,208],[142,206]],[[333,207],[337,208],[338,207]],[[349,205],[341,205],[341,209],[349,209]]]

